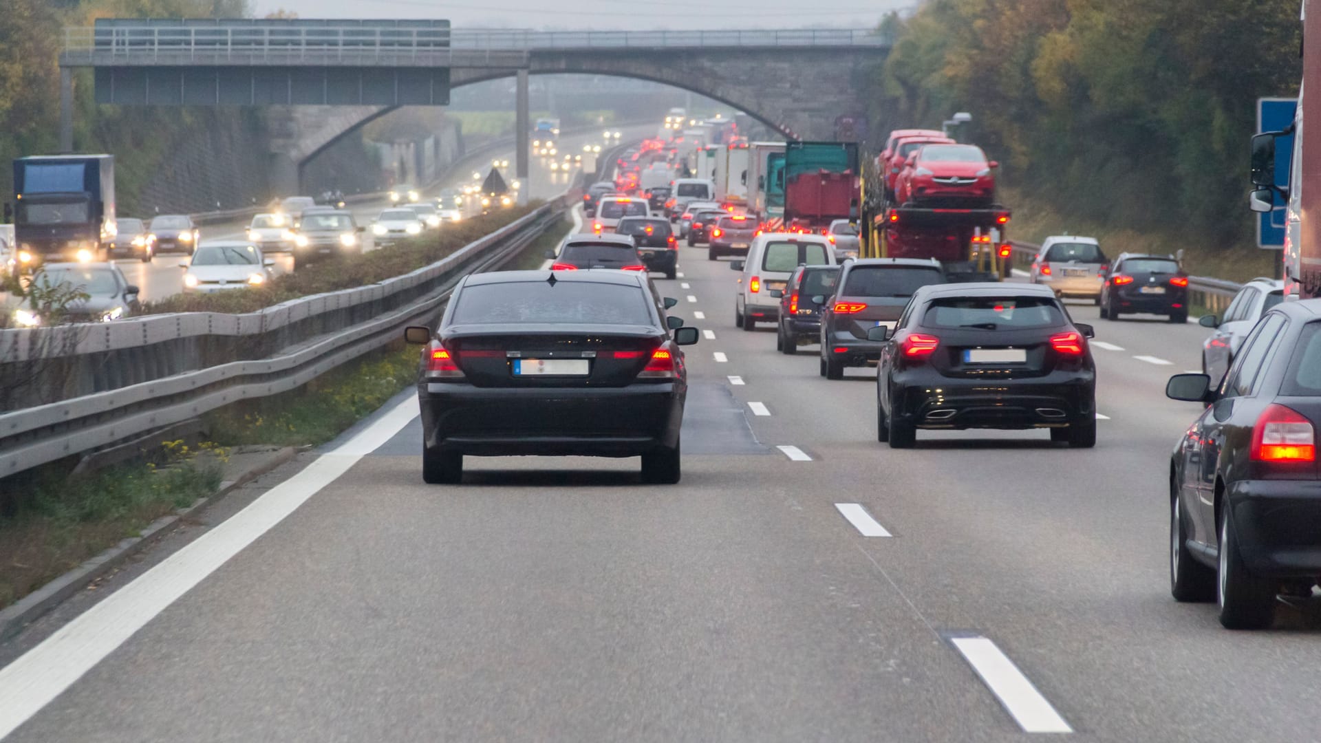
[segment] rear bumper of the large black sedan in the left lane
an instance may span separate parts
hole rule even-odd
[[[473,456],[641,456],[679,443],[686,387],[423,382],[423,446]]]

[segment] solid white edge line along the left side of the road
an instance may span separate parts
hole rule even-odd
[[[13,732],[156,615],[416,416],[417,398],[410,397],[0,669],[0,738]]]

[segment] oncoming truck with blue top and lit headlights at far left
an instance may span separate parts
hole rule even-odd
[[[52,155],[13,161],[17,267],[108,260],[115,239],[115,156]]]

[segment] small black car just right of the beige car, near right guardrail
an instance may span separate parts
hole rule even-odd
[[[1188,274],[1172,255],[1122,254],[1100,286],[1102,319],[1119,320],[1120,312],[1169,315],[1188,323]]]

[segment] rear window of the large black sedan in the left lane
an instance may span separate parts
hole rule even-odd
[[[519,282],[464,287],[453,324],[593,323],[654,325],[638,287],[584,282]]]

